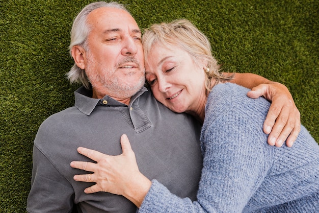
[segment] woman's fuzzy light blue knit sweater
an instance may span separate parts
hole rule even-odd
[[[225,83],[209,93],[197,201],[152,180],[140,213],[319,212],[318,144],[302,126],[292,148],[269,146],[262,125],[270,103],[247,91]]]

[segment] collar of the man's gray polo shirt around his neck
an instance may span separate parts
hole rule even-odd
[[[146,87],[142,87],[134,96],[132,96],[130,100],[131,105],[138,97],[140,97],[145,91],[148,91]],[[109,97],[108,95],[104,96],[102,99],[94,99],[92,97],[92,90],[86,89],[84,86],[79,87],[74,91],[75,96],[75,104],[74,106],[86,115],[90,115],[97,105],[105,105],[105,106],[125,106],[119,101],[116,101]],[[103,104],[103,101],[107,101],[107,105]]]

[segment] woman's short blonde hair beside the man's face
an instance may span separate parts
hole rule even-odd
[[[207,61],[207,68],[205,69],[207,94],[212,87],[212,78],[216,79],[216,82],[232,79],[232,76],[225,77],[220,73],[220,65],[211,54],[208,38],[189,20],[176,19],[170,23],[152,25],[149,29],[145,29],[142,42],[145,60],[152,51],[153,45],[161,43],[167,46],[180,46],[181,49],[191,55],[195,65],[199,65],[200,61]]]

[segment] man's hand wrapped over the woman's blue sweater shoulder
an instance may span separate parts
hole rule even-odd
[[[250,98],[263,96],[272,102],[263,123],[263,131],[269,134],[268,144],[281,147],[286,140],[287,147],[293,146],[300,132],[301,123],[300,112],[288,88],[277,82],[260,84],[252,88],[247,96]]]

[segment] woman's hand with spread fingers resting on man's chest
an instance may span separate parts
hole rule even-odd
[[[92,174],[74,175],[74,180],[95,182],[85,189],[85,193],[109,192],[123,195],[140,207],[146,196],[151,181],[140,173],[135,153],[132,151],[126,135],[121,136],[122,154],[105,155],[100,152],[79,147],[78,153],[91,158],[97,163],[72,161],[72,168],[93,172]]]

